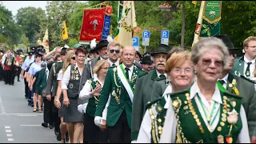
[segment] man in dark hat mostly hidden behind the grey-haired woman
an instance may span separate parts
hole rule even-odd
[[[242,97],[242,106],[246,111],[246,118],[248,122],[249,134],[252,137],[254,129],[256,126],[256,93],[254,89],[254,82],[250,82],[249,79],[244,76],[231,74],[234,66],[234,45],[230,41],[230,38],[227,35],[218,35],[216,38],[222,39],[230,51],[231,64],[228,67],[225,67],[222,72],[222,78],[218,82],[232,94],[237,94]]]

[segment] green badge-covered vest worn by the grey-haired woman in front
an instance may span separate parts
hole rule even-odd
[[[174,108],[178,122],[176,131],[178,130],[179,134],[177,135],[179,137],[176,137],[175,143],[218,143],[219,135],[223,138],[222,142],[226,143],[226,134],[230,131],[230,124],[226,118],[228,116],[227,112],[233,110],[233,106],[231,105],[232,99],[236,102],[234,109],[238,112],[238,122],[235,123],[230,134],[232,135],[233,142],[237,142],[238,134],[242,130],[242,119],[239,114],[242,106],[242,98],[222,90],[220,90],[220,94],[223,102],[220,106],[221,114],[220,118],[216,119],[218,120],[218,125],[212,133],[210,133],[202,119],[195,98],[190,100],[190,88],[170,94],[170,98],[172,99],[171,106]]]

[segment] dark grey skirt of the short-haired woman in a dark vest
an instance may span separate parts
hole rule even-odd
[[[63,105],[63,122],[83,122],[83,114],[78,111],[78,97],[69,98],[70,105]]]

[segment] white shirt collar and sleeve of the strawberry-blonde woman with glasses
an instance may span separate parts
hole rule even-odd
[[[164,106],[165,109],[168,109],[168,107],[170,106],[170,97],[167,96],[169,93],[172,93],[172,88],[170,85],[166,87],[165,92],[162,94],[162,96],[166,99],[166,105]],[[136,141],[132,141],[132,143],[151,143],[151,124],[152,119],[150,117],[150,112],[149,110],[146,110],[141,127],[138,132],[138,138]]]

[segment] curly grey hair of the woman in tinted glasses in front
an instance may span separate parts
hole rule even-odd
[[[230,66],[231,60],[228,48],[221,39],[214,37],[202,38],[194,44],[191,51],[191,60],[194,64],[198,63],[198,60],[201,57],[202,53],[204,53],[206,50],[209,50],[208,46],[217,46],[218,50],[221,50],[223,54],[223,67]]]

